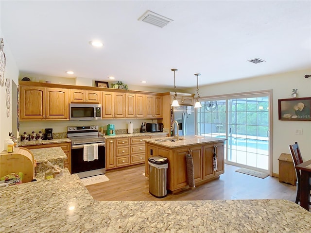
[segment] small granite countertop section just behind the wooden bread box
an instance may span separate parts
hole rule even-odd
[[[67,159],[67,155],[61,147],[31,149],[30,151],[34,154],[37,163]]]

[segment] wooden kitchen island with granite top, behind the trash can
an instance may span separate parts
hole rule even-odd
[[[148,158],[160,155],[166,157],[169,162],[167,188],[173,193],[189,188],[186,155],[190,154],[195,185],[217,179],[225,172],[225,140],[225,138],[204,136],[182,136],[179,140],[173,137],[146,139],[146,176],[149,176]]]

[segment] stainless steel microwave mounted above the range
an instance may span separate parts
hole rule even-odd
[[[69,120],[100,120],[102,105],[92,103],[70,103]]]

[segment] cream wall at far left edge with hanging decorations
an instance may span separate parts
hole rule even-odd
[[[0,151],[4,150],[4,139],[9,138],[9,132],[12,132],[12,118],[14,120],[17,119],[17,116],[12,116],[12,101],[10,101],[10,116],[6,116],[6,86],[5,81],[9,79],[11,82],[12,88],[12,80],[15,83],[18,83],[18,68],[16,62],[12,56],[12,53],[9,48],[9,44],[5,40],[5,37],[0,32],[0,37],[4,40],[4,48],[3,51],[6,57],[6,67],[4,71],[4,85],[0,86]],[[13,98],[14,99],[14,98]],[[16,99],[16,98],[15,98]],[[12,100],[12,90],[10,90],[10,100]],[[14,112],[14,111],[13,111]],[[13,132],[15,136],[17,136],[17,132]]]

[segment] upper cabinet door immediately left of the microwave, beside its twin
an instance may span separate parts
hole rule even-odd
[[[69,119],[69,95],[67,89],[46,89],[46,119]]]

